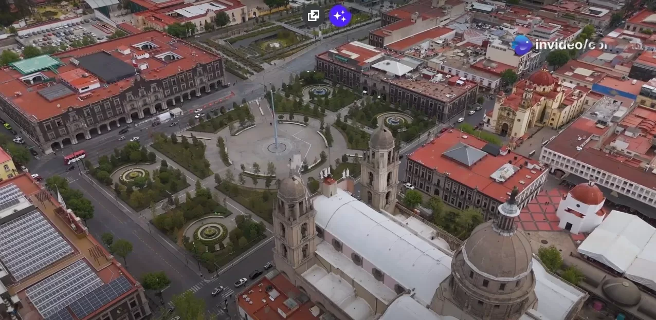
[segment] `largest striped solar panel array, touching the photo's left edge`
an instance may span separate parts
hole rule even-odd
[[[37,210],[0,226],[0,259],[17,280],[71,253],[73,248]]]

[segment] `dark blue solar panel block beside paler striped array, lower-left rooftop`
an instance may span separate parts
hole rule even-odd
[[[121,277],[102,285],[102,287],[73,302],[70,307],[75,313],[75,317],[82,319],[130,289],[132,289],[132,285],[125,279],[125,276],[121,275]]]

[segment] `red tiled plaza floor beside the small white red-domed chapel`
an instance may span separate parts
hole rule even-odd
[[[556,209],[569,189],[558,186],[551,190],[543,190],[529,202],[520,212],[519,228],[524,231],[561,231],[558,228]],[[583,234],[571,235],[572,240],[584,240]]]

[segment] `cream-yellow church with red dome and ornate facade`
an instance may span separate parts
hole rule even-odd
[[[522,138],[535,126],[558,129],[584,111],[590,89],[559,81],[546,69],[518,82],[506,96],[499,92],[484,128],[501,136]]]

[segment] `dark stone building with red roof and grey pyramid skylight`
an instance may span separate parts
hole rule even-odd
[[[518,186],[523,208],[544,185],[547,170],[537,161],[494,144],[448,130],[407,157],[405,182],[457,209],[480,208],[489,220]]]

